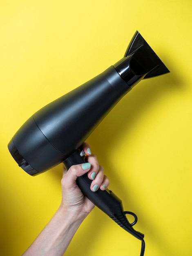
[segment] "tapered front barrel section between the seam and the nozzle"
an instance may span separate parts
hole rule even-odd
[[[113,66],[33,115],[41,132],[65,158],[130,90]]]

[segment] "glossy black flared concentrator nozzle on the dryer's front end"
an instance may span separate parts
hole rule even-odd
[[[131,88],[141,79],[170,72],[138,31],[129,43],[124,57],[114,67]]]

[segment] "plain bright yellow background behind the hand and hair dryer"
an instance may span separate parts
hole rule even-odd
[[[170,74],[141,81],[87,139],[146,256],[192,252],[191,0],[0,1],[0,251],[19,256],[60,204],[61,166],[27,175],[7,149],[38,109],[116,63],[138,30]],[[140,255],[98,209],[66,256]]]

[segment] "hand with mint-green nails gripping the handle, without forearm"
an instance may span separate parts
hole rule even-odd
[[[76,184],[77,177],[87,173],[92,180],[90,189],[105,190],[109,186],[109,180],[103,173],[103,167],[98,164],[96,155],[91,154],[89,144],[83,144],[83,150],[87,155],[87,163],[71,166],[68,171],[64,168],[62,185],[62,201],[60,208],[74,218],[84,219],[94,208],[94,204],[86,198]]]

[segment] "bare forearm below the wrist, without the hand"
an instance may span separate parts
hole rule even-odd
[[[59,208],[23,256],[63,256],[83,219]]]

